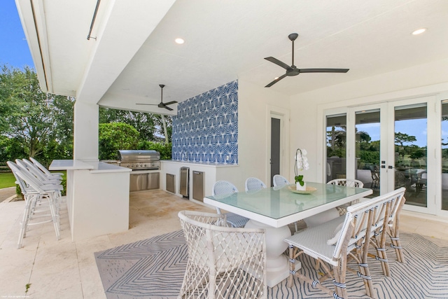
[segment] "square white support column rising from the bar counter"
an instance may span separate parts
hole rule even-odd
[[[73,124],[74,160],[98,160],[98,118],[97,104],[76,101]]]

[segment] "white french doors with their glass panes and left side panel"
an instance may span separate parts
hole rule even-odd
[[[435,214],[437,134],[428,134],[437,126],[428,108],[434,105],[433,97],[421,97],[327,113],[327,181],[358,179],[372,196],[405,187],[405,209]]]

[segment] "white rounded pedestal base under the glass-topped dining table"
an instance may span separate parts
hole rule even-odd
[[[264,228],[266,230],[266,283],[272,288],[280,281],[289,276],[288,258],[283,252],[288,248],[288,244],[283,239],[290,237],[291,232],[288,226],[274,228],[272,226],[249,220],[245,228]],[[295,270],[301,267],[300,262],[295,262]]]

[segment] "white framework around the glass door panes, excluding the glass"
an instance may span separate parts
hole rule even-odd
[[[323,111],[323,128],[327,116],[346,113],[346,178],[355,179],[356,165],[356,112],[379,109],[380,111],[380,194],[387,193],[395,188],[395,107],[426,103],[427,107],[427,207],[417,207],[405,204],[404,209],[424,214],[433,214],[448,217],[448,211],[442,210],[442,155],[441,140],[441,104],[448,99],[448,92],[443,95],[428,97],[415,97],[378,104],[350,106]],[[326,130],[324,130],[322,156],[326,159]],[[325,161],[325,160],[324,160]],[[384,162],[384,164],[383,164]],[[384,165],[384,167],[382,167]],[[326,163],[322,165],[323,179],[325,179]]]

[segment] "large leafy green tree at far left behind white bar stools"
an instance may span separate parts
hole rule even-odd
[[[29,67],[22,71],[6,65],[0,73],[0,97],[0,135],[8,138],[2,140],[12,155],[8,160],[45,158],[49,144],[58,151],[65,148],[64,158],[72,155],[73,98],[42,92]]]

